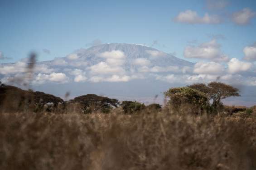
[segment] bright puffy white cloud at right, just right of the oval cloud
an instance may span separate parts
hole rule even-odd
[[[239,61],[237,58],[232,58],[228,63],[228,71],[231,74],[241,71],[247,71],[251,68],[251,63]]]

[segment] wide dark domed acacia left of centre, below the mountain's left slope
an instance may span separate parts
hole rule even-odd
[[[98,110],[107,113],[112,107],[117,107],[119,105],[117,99],[97,96],[95,94],[78,96],[71,100],[71,102],[79,102],[84,114],[96,112]]]

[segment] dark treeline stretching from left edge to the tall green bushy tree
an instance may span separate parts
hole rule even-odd
[[[62,98],[44,92],[22,90],[18,87],[0,83],[0,111],[1,112],[54,112],[83,114],[110,113],[114,108],[121,107],[125,114],[133,114],[141,110],[159,110],[159,104],[145,104],[137,101],[118,101],[106,96],[87,94],[77,96],[72,100],[64,101]]]

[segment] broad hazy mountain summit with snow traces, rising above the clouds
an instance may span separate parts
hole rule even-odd
[[[99,57],[101,53],[106,51],[122,51],[126,56],[126,61],[124,67],[129,69],[135,64],[133,61],[138,58],[145,58],[152,62],[154,66],[167,67],[167,66],[193,66],[193,63],[186,60],[179,59],[174,55],[164,53],[155,48],[151,48],[145,45],[140,44],[101,44],[98,46],[92,46],[88,49],[81,48],[77,51],[74,51],[72,54],[76,54],[78,58],[76,61],[87,62],[87,66],[95,65],[99,62],[104,61],[104,58]],[[67,57],[63,57],[63,60],[69,62],[70,60]],[[54,60],[40,62],[41,64],[56,65]]]

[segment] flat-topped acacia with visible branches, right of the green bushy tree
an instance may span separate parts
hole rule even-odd
[[[211,82],[208,84],[195,83],[188,87],[206,93],[208,100],[213,101],[212,106],[216,109],[222,107],[223,99],[230,96],[240,96],[238,88],[220,82]]]

